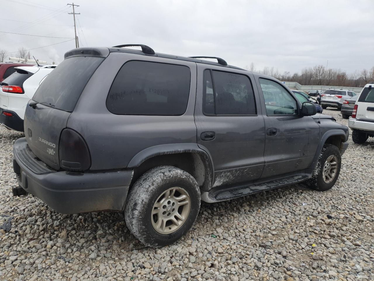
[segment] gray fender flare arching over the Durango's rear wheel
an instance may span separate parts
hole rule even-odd
[[[202,189],[206,191],[210,190],[214,178],[212,157],[208,150],[201,149],[197,143],[169,143],[145,148],[132,157],[128,164],[128,168],[134,169],[139,167],[144,161],[154,156],[184,152],[192,152],[200,156],[205,168],[205,182]]]

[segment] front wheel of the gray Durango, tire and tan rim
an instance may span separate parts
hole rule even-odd
[[[339,149],[335,145],[325,144],[319,155],[312,178],[303,182],[302,185],[317,191],[329,190],[338,179],[340,167],[341,156]]]

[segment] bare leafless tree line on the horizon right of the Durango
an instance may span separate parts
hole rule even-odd
[[[306,67],[301,73],[295,72],[291,75],[289,71],[279,73],[274,67],[264,67],[256,70],[254,63],[245,67],[246,70],[263,73],[281,81],[298,82],[301,85],[325,85],[339,87],[364,87],[369,82],[374,82],[374,66],[371,69],[355,70],[346,73],[341,69],[326,68],[323,65]]]

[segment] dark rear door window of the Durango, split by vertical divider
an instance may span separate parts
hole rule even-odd
[[[256,114],[252,85],[247,76],[215,70],[205,70],[204,76],[203,109],[206,114]],[[212,86],[209,86],[211,81],[214,83],[214,94]]]

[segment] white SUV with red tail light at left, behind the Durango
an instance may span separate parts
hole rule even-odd
[[[16,72],[0,82],[0,123],[9,130],[24,131],[27,102],[44,78],[56,67],[18,66]]]

